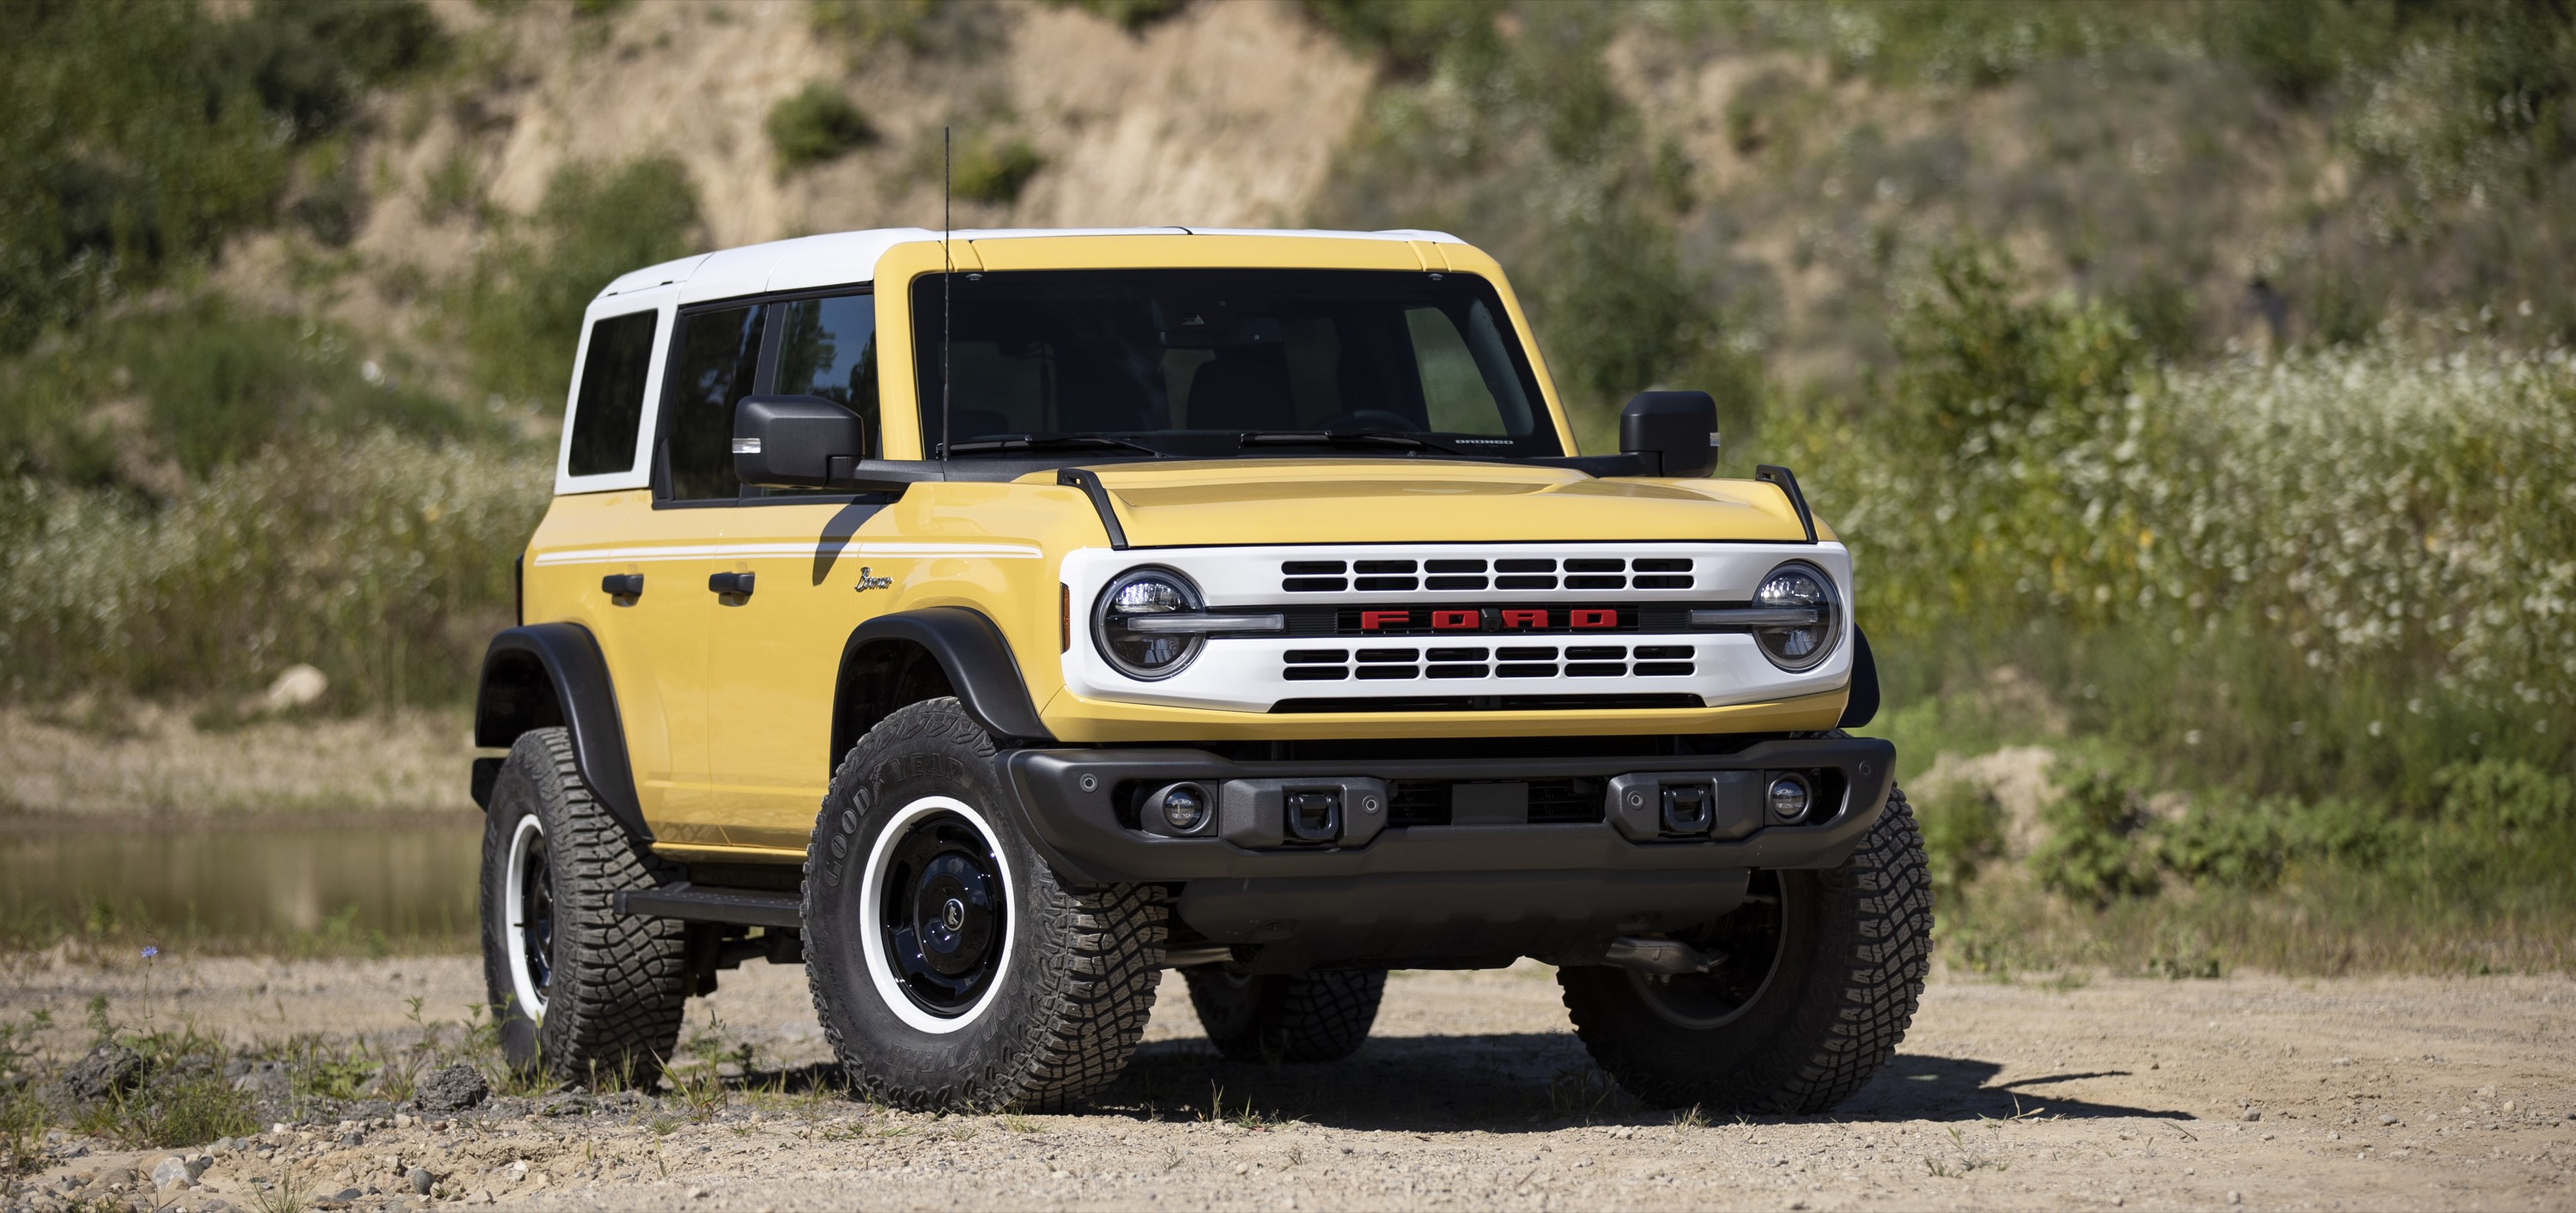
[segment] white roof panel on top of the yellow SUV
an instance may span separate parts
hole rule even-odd
[[[1425,245],[1463,245],[1448,232],[1285,232],[1260,227],[997,227],[958,229],[951,240],[1030,240],[1030,237],[1309,237],[1309,240],[1419,240]],[[600,299],[680,286],[680,301],[734,299],[744,294],[801,291],[811,286],[866,283],[876,260],[894,245],[938,242],[927,227],[876,227],[822,237],[773,240],[768,245],[698,252],[618,276]]]

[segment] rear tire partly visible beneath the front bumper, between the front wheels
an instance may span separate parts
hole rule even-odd
[[[1180,976],[1208,1043],[1231,1061],[1342,1061],[1368,1043],[1386,994],[1383,968],[1252,976],[1190,966]]]

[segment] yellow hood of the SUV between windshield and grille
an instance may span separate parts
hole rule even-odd
[[[1092,469],[1133,546],[1803,541],[1752,479],[1595,479],[1530,464],[1236,458]],[[1816,528],[1826,538],[1824,525]]]

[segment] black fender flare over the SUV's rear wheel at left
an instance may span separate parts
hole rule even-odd
[[[639,840],[652,840],[626,762],[626,726],[600,641],[580,623],[526,623],[492,636],[474,690],[474,744],[507,749],[531,729],[572,734],[582,783]],[[489,809],[500,760],[474,760],[474,804]]]

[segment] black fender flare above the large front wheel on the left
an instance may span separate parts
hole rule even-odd
[[[920,608],[876,616],[850,631],[832,682],[827,762],[840,765],[894,708],[940,695],[956,695],[966,716],[999,744],[1054,742],[1028,701],[1028,682],[1002,628],[981,610]]]

